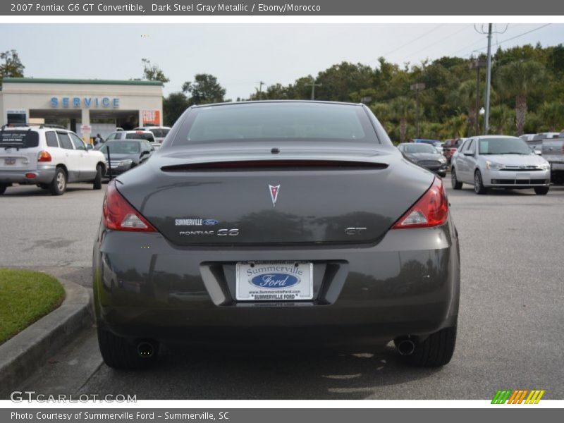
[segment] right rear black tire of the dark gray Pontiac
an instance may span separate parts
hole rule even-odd
[[[411,355],[401,356],[405,362],[417,367],[441,367],[450,362],[456,344],[456,326],[431,333],[415,344]]]

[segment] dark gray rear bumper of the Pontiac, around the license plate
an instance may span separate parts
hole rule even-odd
[[[236,302],[233,268],[250,260],[312,261],[314,300]],[[204,250],[104,228],[94,245],[98,325],[131,339],[342,346],[427,336],[456,324],[459,290],[452,223],[388,231],[369,247]]]

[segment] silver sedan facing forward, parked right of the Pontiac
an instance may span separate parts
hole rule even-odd
[[[534,154],[527,143],[508,135],[472,137],[455,152],[450,168],[455,190],[463,183],[474,192],[486,194],[489,188],[534,188],[545,195],[551,181],[548,161]]]

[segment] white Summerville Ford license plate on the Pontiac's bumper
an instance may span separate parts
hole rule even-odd
[[[297,301],[313,298],[309,262],[239,262],[235,269],[238,301]]]

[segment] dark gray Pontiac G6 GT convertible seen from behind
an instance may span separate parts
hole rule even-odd
[[[362,104],[192,106],[107,188],[94,243],[111,367],[159,343],[356,350],[394,340],[437,367],[455,348],[460,255],[441,179]]]

